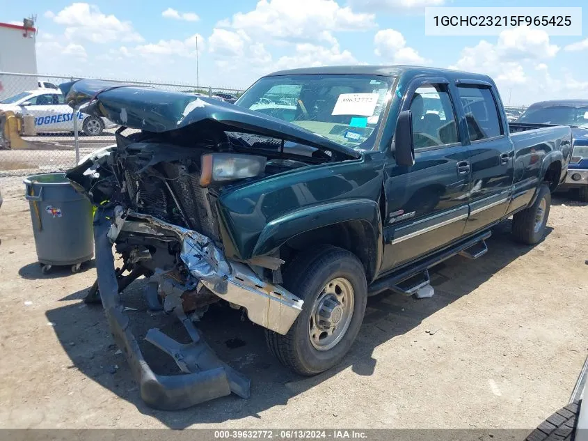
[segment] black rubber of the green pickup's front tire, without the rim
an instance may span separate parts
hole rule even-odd
[[[353,312],[347,332],[328,350],[312,345],[309,326],[312,306],[329,281],[342,277],[353,288]],[[321,245],[301,252],[284,274],[284,287],[298,295],[304,304],[302,312],[286,335],[266,330],[269,350],[285,366],[304,376],[313,376],[331,369],[347,354],[355,341],[365,314],[367,283],[359,259],[345,249]]]

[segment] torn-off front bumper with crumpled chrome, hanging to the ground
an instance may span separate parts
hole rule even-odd
[[[253,313],[255,320],[252,318],[252,321],[271,326],[270,329],[276,332],[287,332],[301,310],[302,301],[283,288],[253,278],[255,274],[247,272],[245,265],[229,265],[221,251],[205,236],[152,217],[136,213],[134,217],[139,220],[127,221],[127,214],[121,207],[100,207],[94,219],[94,239],[98,287],[104,313],[113,338],[125,353],[139,384],[141,398],[151,407],[162,410],[189,408],[231,392],[248,398],[249,380],[216,357],[191,320],[186,318],[181,303],[173,307],[173,311],[186,327],[192,342],[179,343],[158,329],[149,330],[145,340],[173,357],[183,373],[161,376],[150,369],[120,302],[112,253],[113,240],[121,231],[155,235],[161,229],[174,231],[182,239],[182,259],[203,285],[219,297],[246,307]],[[265,306],[261,305],[262,302]]]

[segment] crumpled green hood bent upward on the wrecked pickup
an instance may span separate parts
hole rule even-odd
[[[114,123],[148,132],[168,132],[207,121],[228,132],[246,132],[334,150],[350,157],[361,154],[319,134],[253,110],[193,93],[170,92],[96,79],[59,86],[70,107],[103,116]]]

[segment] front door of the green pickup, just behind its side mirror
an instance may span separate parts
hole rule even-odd
[[[411,84],[402,110],[413,114],[415,164],[385,169],[386,246],[382,270],[390,270],[447,245],[463,233],[468,217],[469,150],[456,124],[445,79]]]

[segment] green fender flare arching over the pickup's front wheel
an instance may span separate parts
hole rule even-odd
[[[382,222],[379,204],[371,199],[346,199],[307,206],[273,219],[257,238],[252,256],[269,254],[301,233],[347,221],[363,221],[372,226],[376,267],[379,267],[383,252]]]

